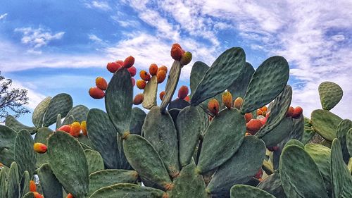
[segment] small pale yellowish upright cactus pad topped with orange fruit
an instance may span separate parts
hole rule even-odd
[[[145,109],[151,109],[153,106],[156,106],[156,94],[158,93],[158,81],[156,80],[156,75],[151,77],[146,87],[144,87],[143,96],[144,100],[142,106]]]

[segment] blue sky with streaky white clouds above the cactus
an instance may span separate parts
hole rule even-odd
[[[351,119],[351,36],[349,0],[0,0],[0,70],[13,87],[28,90],[30,110],[61,92],[74,105],[104,109],[88,89],[98,76],[111,78],[106,63],[132,55],[137,72],[151,63],[170,68],[177,42],[193,54],[179,86],[189,85],[194,61],[211,66],[226,49],[241,47],[254,68],[270,56],[287,59],[292,106],[307,117],[321,109],[320,82],[336,82],[344,97],[332,112]],[[30,114],[19,120],[32,125]]]

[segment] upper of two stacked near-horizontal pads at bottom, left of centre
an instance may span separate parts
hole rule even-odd
[[[118,183],[134,183],[137,181],[137,171],[127,171],[121,169],[108,169],[96,171],[89,175],[88,197],[102,187]]]

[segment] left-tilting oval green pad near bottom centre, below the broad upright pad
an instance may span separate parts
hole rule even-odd
[[[161,157],[153,145],[139,135],[128,135],[123,140],[123,149],[132,168],[143,178],[157,183],[161,187],[170,184],[171,180]]]

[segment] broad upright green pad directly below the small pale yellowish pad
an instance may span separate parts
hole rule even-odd
[[[161,113],[158,106],[153,106],[146,114],[143,135],[156,149],[165,163],[170,175],[180,172],[178,160],[177,131],[168,112]]]

